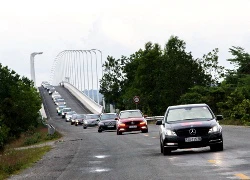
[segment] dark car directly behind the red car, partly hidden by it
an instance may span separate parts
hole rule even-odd
[[[98,132],[104,130],[116,130],[116,113],[102,113],[98,119]]]

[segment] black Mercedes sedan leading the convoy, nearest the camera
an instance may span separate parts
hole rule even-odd
[[[169,106],[160,125],[161,153],[172,150],[210,146],[212,151],[223,150],[222,127],[207,104]]]

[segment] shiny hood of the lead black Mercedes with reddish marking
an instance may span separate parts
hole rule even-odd
[[[186,122],[179,122],[179,123],[172,123],[172,124],[165,124],[167,129],[172,130],[179,130],[179,129],[187,129],[187,128],[211,128],[215,126],[217,122],[215,120],[208,120],[208,121],[186,121]]]

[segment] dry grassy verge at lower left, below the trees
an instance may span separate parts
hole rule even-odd
[[[0,180],[7,179],[11,175],[31,167],[52,149],[51,146],[31,148],[31,145],[42,144],[61,137],[62,135],[57,131],[53,135],[49,135],[47,127],[41,125],[7,144],[5,149],[0,152]],[[20,147],[30,148],[18,149]]]

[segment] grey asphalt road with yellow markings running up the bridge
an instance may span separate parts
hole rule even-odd
[[[56,87],[68,106],[88,112],[62,87]],[[47,92],[42,91],[49,123],[64,134],[33,167],[10,179],[34,180],[225,180],[250,179],[250,128],[223,126],[224,151],[209,147],[160,153],[158,126],[149,133],[98,133],[97,128],[72,126],[56,114]]]

